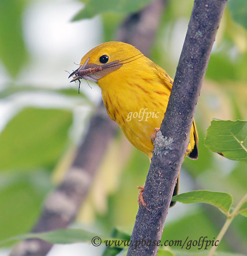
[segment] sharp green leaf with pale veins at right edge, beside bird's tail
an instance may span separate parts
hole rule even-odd
[[[247,121],[213,120],[205,145],[226,158],[247,163]]]

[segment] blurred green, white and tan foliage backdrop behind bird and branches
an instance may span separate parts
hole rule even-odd
[[[0,240],[31,229],[45,196],[71,163],[87,119],[99,102],[100,92],[94,84],[92,89],[82,84],[78,96],[77,85],[69,84],[64,69],[75,69],[73,61],[78,63],[90,48],[114,40],[122,19],[148,3],[111,2],[89,0],[82,9],[80,3],[67,0],[60,7],[67,8],[70,16],[63,16],[56,0],[0,1]],[[192,0],[168,1],[153,45],[150,58],[172,77],[192,5]],[[33,29],[37,9],[40,20],[47,19],[49,24],[40,22]],[[227,192],[233,195],[235,204],[246,192],[247,166],[212,153],[205,147],[204,138],[212,118],[247,120],[246,10],[246,1],[229,1],[195,116],[199,159],[185,159],[180,178],[181,193],[198,189]],[[102,12],[90,20],[70,22]],[[57,39],[52,33],[45,34],[45,29],[54,29],[54,24],[67,35],[72,31],[59,39],[67,48],[54,43]],[[52,32],[58,36],[55,30]],[[144,183],[148,166],[146,156],[119,131],[74,225],[106,236],[116,226],[131,233],[138,209],[136,186]],[[224,221],[225,217],[212,206],[177,203],[168,215],[163,239],[213,238]],[[247,219],[239,215],[219,249],[246,251],[246,226]]]

